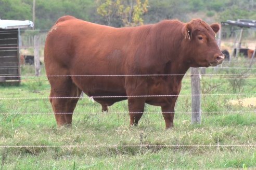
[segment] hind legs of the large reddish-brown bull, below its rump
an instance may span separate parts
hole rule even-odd
[[[70,77],[54,79],[53,81],[49,79],[49,82],[51,85],[50,102],[53,106],[55,119],[59,127],[71,125],[73,111],[79,100],[81,90],[75,86]]]

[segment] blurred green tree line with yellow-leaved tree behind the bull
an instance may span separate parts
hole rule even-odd
[[[33,1],[0,0],[0,18],[33,20]],[[256,19],[256,0],[35,0],[35,29],[48,30],[56,20],[71,15],[86,21],[133,26],[163,19],[187,22],[201,18],[209,23]]]

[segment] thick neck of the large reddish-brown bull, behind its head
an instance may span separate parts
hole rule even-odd
[[[155,36],[160,60],[166,63],[165,74],[181,75],[175,76],[182,79],[190,67],[186,60],[186,49],[182,46],[185,37],[182,34],[183,23],[178,21],[163,21],[156,25]]]

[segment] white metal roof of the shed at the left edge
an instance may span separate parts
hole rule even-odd
[[[34,23],[29,20],[18,21],[18,20],[1,20],[0,19],[0,29],[20,29],[33,27]]]

